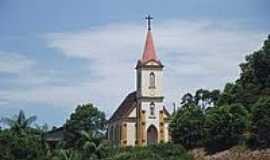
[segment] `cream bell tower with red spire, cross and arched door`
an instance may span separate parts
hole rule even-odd
[[[162,136],[163,123],[163,65],[157,58],[153,36],[151,32],[151,20],[147,16],[147,34],[143,56],[136,66],[136,96],[137,96],[137,128],[136,143],[146,145],[164,141]]]

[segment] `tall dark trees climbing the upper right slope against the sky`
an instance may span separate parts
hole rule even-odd
[[[219,100],[219,105],[241,103],[249,111],[263,96],[270,95],[270,35],[262,49],[246,56],[240,64],[240,78],[228,83]]]

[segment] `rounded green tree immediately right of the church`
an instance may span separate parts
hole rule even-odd
[[[195,104],[186,104],[180,108],[170,123],[170,132],[174,143],[187,148],[203,145],[205,116],[203,110]]]

